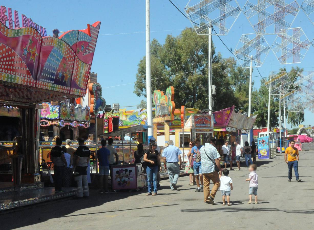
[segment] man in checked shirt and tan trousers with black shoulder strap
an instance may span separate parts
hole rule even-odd
[[[206,204],[215,204],[214,198],[220,186],[219,177],[221,176],[220,154],[214,147],[216,139],[209,137],[205,145],[200,149],[202,159],[202,172],[204,182],[204,202]],[[209,182],[213,181],[214,187],[209,195]]]

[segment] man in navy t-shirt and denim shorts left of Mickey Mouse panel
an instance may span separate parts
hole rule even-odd
[[[97,150],[97,158],[99,161],[99,185],[100,192],[103,193],[104,175],[105,175],[105,193],[108,193],[108,175],[109,175],[109,156],[110,151],[106,148],[107,141],[101,140],[101,149]]]

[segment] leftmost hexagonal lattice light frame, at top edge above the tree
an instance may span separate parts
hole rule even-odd
[[[208,28],[213,26],[217,32],[213,35],[228,34],[241,13],[236,0],[190,0],[184,10],[197,34],[208,34]]]

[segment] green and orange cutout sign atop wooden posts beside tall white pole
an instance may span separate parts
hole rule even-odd
[[[174,100],[175,90],[173,86],[166,89],[166,95],[163,91],[154,91],[154,105],[155,105],[155,118],[168,117],[170,121],[174,120],[175,102]],[[161,114],[161,107],[168,107],[168,114]]]

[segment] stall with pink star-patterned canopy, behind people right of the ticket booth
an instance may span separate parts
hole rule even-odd
[[[232,152],[232,160],[234,160],[236,148],[233,142],[237,141],[242,147],[244,146],[244,142],[249,140],[247,135],[249,130],[252,129],[257,115],[248,117],[247,112],[242,112],[241,110],[235,112],[235,106],[215,111],[213,115],[214,136],[217,139],[216,148],[220,155],[223,156],[221,147],[228,140]],[[245,159],[241,158],[240,161],[245,161]],[[220,164],[223,164],[223,162],[220,162]]]

